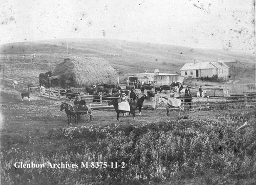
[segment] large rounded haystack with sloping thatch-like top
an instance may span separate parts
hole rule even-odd
[[[59,76],[61,86],[83,87],[93,84],[116,84],[115,69],[102,58],[72,57],[54,68],[52,76]],[[65,85],[66,84],[66,85]]]

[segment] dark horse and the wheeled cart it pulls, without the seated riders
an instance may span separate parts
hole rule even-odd
[[[60,111],[65,110],[68,117],[68,124],[78,123],[80,121],[80,116],[87,116],[88,122],[93,121],[93,108],[90,106],[82,105],[71,105],[66,102],[61,102]]]

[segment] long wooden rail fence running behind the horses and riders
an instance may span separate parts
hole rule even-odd
[[[16,84],[13,82],[16,81]],[[3,85],[5,87],[10,87],[19,91],[27,91],[34,94],[38,94],[42,97],[54,98],[56,100],[65,100],[73,101],[73,97],[69,97],[66,94],[62,94],[59,91],[50,89],[40,89],[37,84],[34,87],[31,87],[30,84],[25,84],[22,81],[3,78]],[[38,93],[39,92],[39,93]],[[71,93],[69,93],[71,94]],[[76,95],[76,94],[73,94]],[[103,100],[104,96],[92,96],[92,95],[77,95],[79,98],[83,97],[86,99],[86,102],[96,109],[113,109],[113,106],[109,106],[109,100]],[[168,94],[166,94],[168,96]],[[145,101],[143,105],[150,105],[152,109],[155,110],[158,107],[157,97],[152,98],[152,101]],[[109,98],[109,97],[106,97]],[[98,102],[94,102],[98,100]],[[191,100],[191,108],[194,110],[204,110],[204,109],[232,109],[232,108],[245,108],[245,107],[255,107],[256,105],[256,93],[255,94],[244,94],[244,95],[226,95],[221,97],[205,97],[205,98],[196,98],[193,97]],[[186,103],[184,105],[185,109],[190,108],[190,105]]]

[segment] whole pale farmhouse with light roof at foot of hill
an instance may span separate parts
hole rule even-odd
[[[186,63],[181,69],[185,77],[228,77],[229,67],[222,61]]]

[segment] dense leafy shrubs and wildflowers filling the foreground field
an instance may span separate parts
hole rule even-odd
[[[55,131],[63,142],[69,142],[68,147],[52,155],[17,155],[21,152],[13,148],[4,152],[1,161],[6,169],[1,172],[8,184],[35,183],[35,179],[41,184],[148,184],[194,177],[218,184],[224,183],[220,174],[226,182],[250,181],[256,173],[254,121],[254,115],[244,112],[198,120],[133,123],[125,129],[117,125],[67,127]],[[249,126],[235,131],[245,122]],[[79,168],[18,169],[17,175],[14,161],[67,162]],[[81,162],[125,163],[125,168],[80,168]]]

